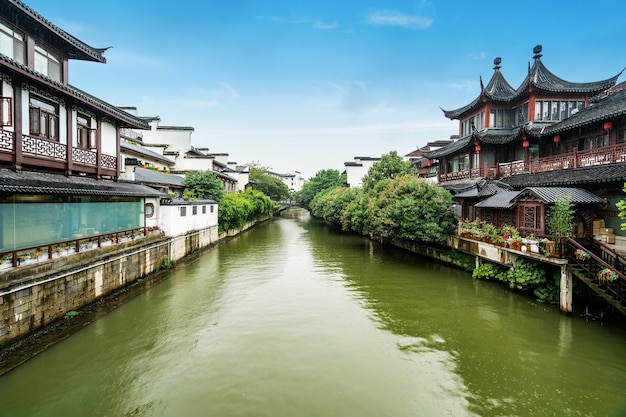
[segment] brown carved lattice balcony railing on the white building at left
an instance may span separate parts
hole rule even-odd
[[[15,135],[13,132],[0,130],[0,161],[17,162],[14,142]],[[67,170],[68,168],[68,146],[65,144],[23,135],[21,151],[22,164],[24,165],[45,166],[60,170]],[[70,157],[72,171],[117,176],[116,156],[101,154],[98,161],[96,151],[72,147]]]

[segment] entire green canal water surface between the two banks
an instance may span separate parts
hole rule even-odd
[[[0,416],[626,416],[625,342],[296,209],[0,377]]]

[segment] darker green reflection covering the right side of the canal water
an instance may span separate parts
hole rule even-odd
[[[309,231],[318,262],[341,269],[379,326],[403,340],[402,352],[432,355],[456,375],[455,392],[469,410],[481,416],[626,414],[619,388],[626,382],[623,334],[358,236],[329,239],[332,232],[317,227]]]

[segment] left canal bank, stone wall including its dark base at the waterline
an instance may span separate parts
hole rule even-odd
[[[184,266],[206,250],[267,221],[218,233],[150,234],[0,276],[0,375],[68,337]]]

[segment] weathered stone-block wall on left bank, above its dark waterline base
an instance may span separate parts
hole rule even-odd
[[[172,238],[151,234],[1,271],[0,348],[158,271],[164,261],[180,260],[240,232],[218,235],[213,226]]]

